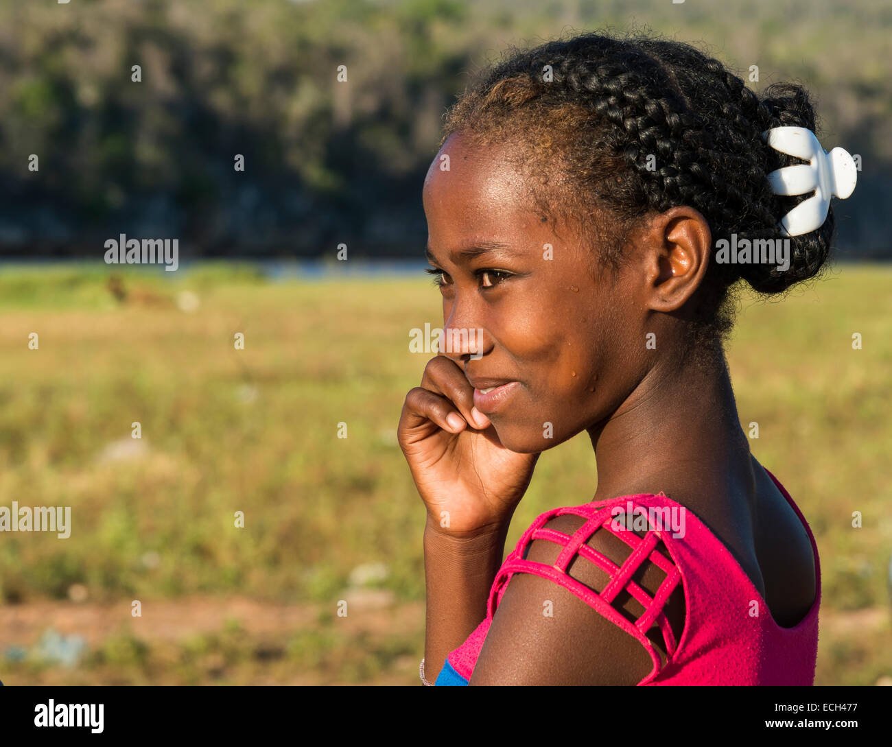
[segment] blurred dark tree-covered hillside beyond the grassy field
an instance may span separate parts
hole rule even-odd
[[[892,254],[887,0],[0,0],[0,254],[98,259],[124,233],[179,238],[184,259],[420,258],[425,171],[467,73],[630,23],[744,78],[757,64],[756,90],[809,87],[825,147],[863,160],[840,249]]]

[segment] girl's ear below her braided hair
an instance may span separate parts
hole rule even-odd
[[[642,236],[648,308],[675,311],[690,299],[706,275],[712,232],[703,214],[687,205],[660,213]]]

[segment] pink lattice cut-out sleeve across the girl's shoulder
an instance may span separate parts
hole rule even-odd
[[[670,543],[687,531],[683,507],[665,495],[636,494],[549,509],[524,531],[500,568],[487,617],[491,620],[517,573],[540,576],[607,620],[610,626],[604,628],[591,612],[586,616],[599,626],[600,639],[615,636],[614,651],[626,647],[632,636],[648,654],[642,659],[632,642],[631,661],[605,666],[620,665],[624,676],[634,670],[636,682],[654,677],[675,653],[685,626],[682,571]],[[688,562],[683,558],[681,564]],[[577,610],[582,615],[582,608]],[[591,661],[590,669],[596,666],[598,661]],[[602,675],[613,677],[607,670]]]

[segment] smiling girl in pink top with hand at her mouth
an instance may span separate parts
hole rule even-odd
[[[803,200],[768,176],[803,162],[766,142],[784,126],[814,131],[799,86],[759,97],[689,45],[598,34],[513,53],[451,108],[423,193],[448,347],[398,429],[427,509],[425,684],[814,683],[817,546],[723,354],[735,283],[828,259],[830,211],[779,226]],[[541,451],[580,431],[594,497],[502,563]]]

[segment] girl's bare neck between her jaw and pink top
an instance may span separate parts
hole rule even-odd
[[[657,365],[589,435],[595,501],[660,491],[694,505],[698,497],[754,499],[753,459],[721,352]]]

